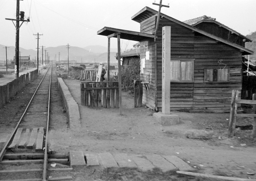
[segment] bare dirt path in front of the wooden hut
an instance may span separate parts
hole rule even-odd
[[[133,99],[123,96],[123,114],[118,109],[92,109],[80,105],[80,81],[64,80],[79,104],[81,128],[51,130],[50,148],[57,152],[82,150],[87,153],[127,153],[176,155],[203,173],[247,178],[256,172],[255,148],[237,147],[232,139],[218,140],[214,130],[202,130],[207,121],[226,120],[229,114],[191,114],[175,112],[182,124],[161,126],[153,112],[133,108]],[[206,132],[216,139],[188,139],[192,133]],[[230,146],[234,145],[234,148]],[[201,166],[200,166],[201,165]],[[203,165],[203,166],[202,166]],[[250,176],[256,179],[256,176]]]

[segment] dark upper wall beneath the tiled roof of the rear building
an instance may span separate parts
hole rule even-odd
[[[238,36],[235,33],[231,33],[229,30],[223,27],[219,27],[216,23],[201,22],[195,26],[196,28],[208,32],[212,35],[226,39],[234,44],[244,47],[243,37]]]

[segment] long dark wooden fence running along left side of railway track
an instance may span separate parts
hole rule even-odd
[[[19,76],[18,79],[0,86],[0,106],[6,104],[9,99],[21,91],[30,81],[33,81],[38,76],[38,70]]]

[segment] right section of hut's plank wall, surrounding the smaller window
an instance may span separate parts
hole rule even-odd
[[[222,64],[219,64],[219,61]],[[225,67],[225,65],[226,67]],[[229,82],[205,83],[204,68],[229,68]],[[194,108],[230,107],[232,90],[242,89],[242,54],[224,43],[195,33]]]

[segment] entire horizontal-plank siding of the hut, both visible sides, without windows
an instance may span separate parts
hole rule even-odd
[[[153,33],[156,16],[141,22],[141,32]],[[224,43],[177,24],[160,18],[157,32],[157,108],[162,107],[162,27],[171,26],[171,58],[194,59],[194,82],[171,83],[171,108],[216,108],[229,107],[233,89],[241,90],[242,53]],[[155,44],[154,41],[141,42],[141,59],[150,51],[150,60],[145,61],[141,80],[150,73],[150,90],[143,88],[143,104],[155,109]],[[205,83],[205,68],[220,68],[218,61],[229,68],[230,81],[226,83]],[[223,65],[221,64],[221,65]],[[221,66],[224,68],[224,66]]]

